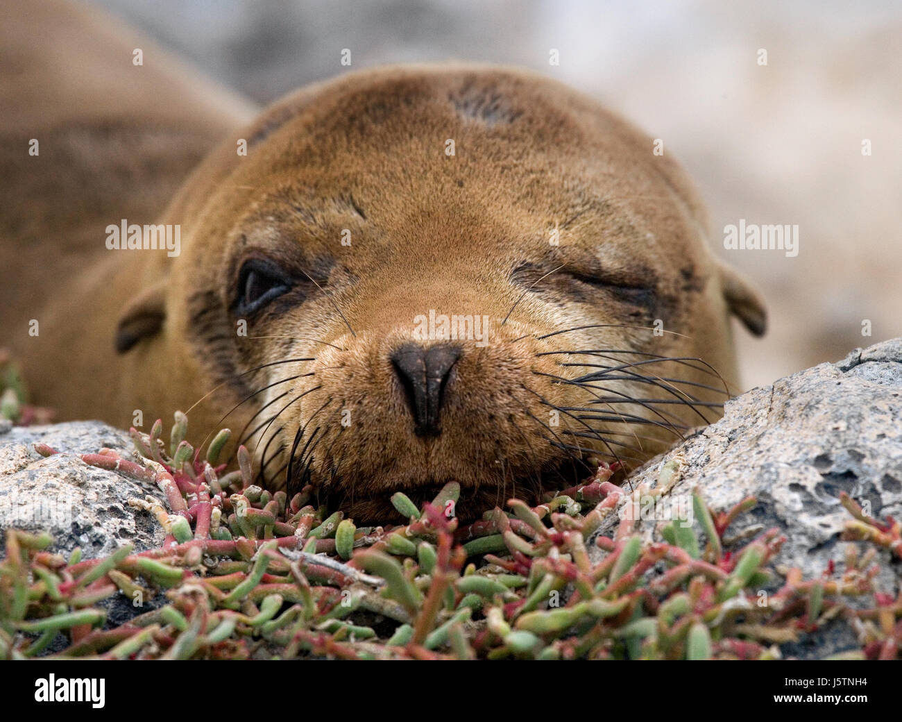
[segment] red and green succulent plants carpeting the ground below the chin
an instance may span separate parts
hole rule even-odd
[[[228,470],[228,430],[200,458],[187,426],[176,414],[169,445],[160,421],[150,434],[132,430],[143,464],[109,449],[81,457],[159,486],[165,506],[152,496],[129,504],[162,525],[160,548],[67,559],[47,534],[7,530],[0,658],[52,645],[54,657],[104,659],[773,659],[781,643],[830,624],[860,640],[846,658],[898,657],[902,597],[875,588],[873,562],[880,547],[902,556],[900,526],[848,497],[843,538],[861,544],[848,545],[842,573],[831,564],[805,580],[798,569],[775,574],[785,542],[776,529],[724,541],[752,498],[716,513],[696,490],[696,526],[661,523],[648,542],[624,518],[602,536],[630,494],[603,466],[543,504],[511,500],[466,525],[447,515],[460,492],[452,483],[422,508],[394,495],[406,524],[357,527],[315,505],[310,486],[291,499],[254,486],[244,447]],[[102,607],[115,595],[136,605],[122,625]],[[142,612],[154,595],[165,604]]]

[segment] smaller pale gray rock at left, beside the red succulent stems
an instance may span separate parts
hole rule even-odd
[[[61,453],[43,458],[34,450],[35,442]],[[138,460],[128,434],[99,421],[0,433],[0,529],[50,532],[53,551],[80,547],[84,559],[104,556],[126,542],[133,543],[135,551],[160,546],[160,525],[151,514],[135,512],[127,501],[146,495],[161,499],[161,491],[78,458],[104,447]],[[4,546],[5,535],[0,535],[0,550]]]

